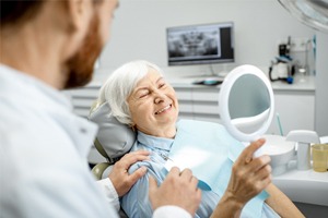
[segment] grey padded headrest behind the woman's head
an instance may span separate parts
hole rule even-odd
[[[108,102],[96,108],[92,107],[89,120],[98,125],[98,133],[94,142],[97,150],[112,162],[131,149],[137,134],[127,124],[122,124],[115,117],[109,116],[110,110]]]

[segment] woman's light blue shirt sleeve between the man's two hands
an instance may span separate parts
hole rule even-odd
[[[129,169],[129,173],[134,172],[139,167],[144,166],[140,162]],[[147,167],[147,166],[145,166]],[[121,198],[121,207],[129,218],[152,217],[153,209],[149,201],[149,175],[150,169],[144,177],[139,179],[131,190]]]

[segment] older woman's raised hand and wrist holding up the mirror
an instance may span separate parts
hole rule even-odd
[[[234,162],[229,185],[212,217],[239,217],[246,203],[271,183],[270,157],[254,157],[265,142],[253,142]]]

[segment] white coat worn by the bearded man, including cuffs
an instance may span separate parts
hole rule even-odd
[[[101,191],[87,166],[96,131],[62,93],[0,65],[0,217],[118,217],[110,180]],[[190,217],[173,206],[154,214],[174,216]]]

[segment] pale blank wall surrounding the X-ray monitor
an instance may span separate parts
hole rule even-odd
[[[101,56],[101,70],[147,59],[166,71],[207,71],[208,65],[167,66],[166,27],[233,21],[233,65],[268,66],[277,56],[277,44],[288,36],[312,38],[315,32],[292,17],[278,0],[120,0],[112,26],[112,38]],[[213,65],[221,70],[222,65]]]

